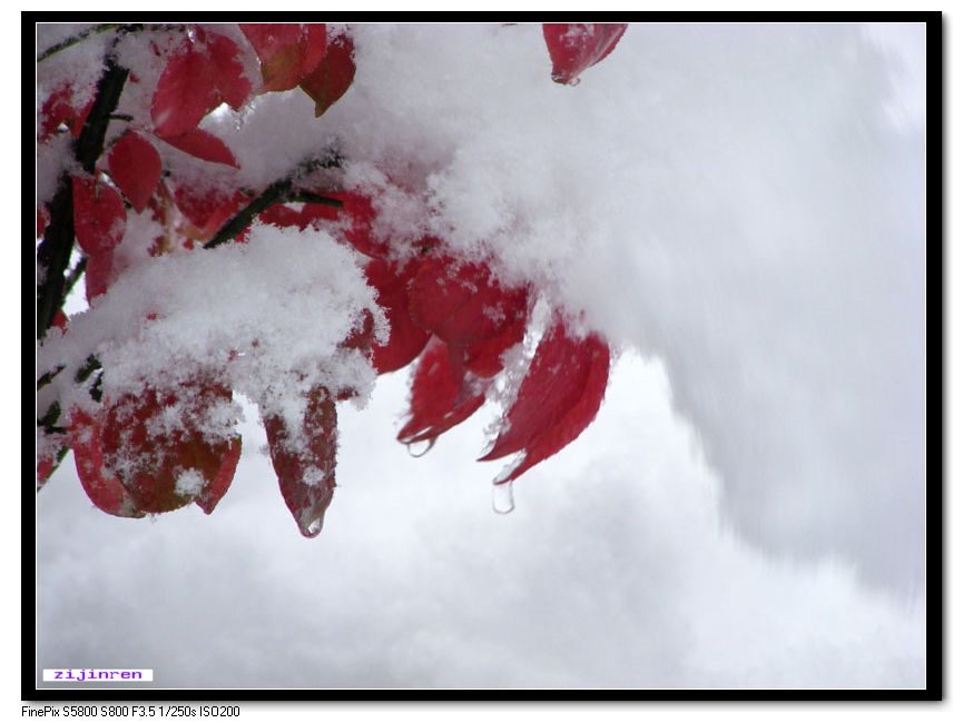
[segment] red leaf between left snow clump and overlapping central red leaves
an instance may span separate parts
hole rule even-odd
[[[429,333],[414,324],[409,314],[407,284],[415,270],[416,259],[399,268],[397,264],[375,258],[365,267],[367,283],[376,289],[375,300],[391,326],[387,341],[372,345],[372,364],[379,374],[407,366],[428,344]]]

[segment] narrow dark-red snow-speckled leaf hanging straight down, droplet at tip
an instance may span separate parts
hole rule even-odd
[[[334,496],[337,450],[337,409],[327,390],[317,387],[308,396],[301,434],[292,434],[279,416],[264,417],[271,463],[281,494],[301,534],[315,537]],[[304,438],[306,445],[298,444]],[[301,448],[306,446],[306,448]]]

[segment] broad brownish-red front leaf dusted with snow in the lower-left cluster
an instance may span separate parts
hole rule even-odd
[[[229,388],[203,383],[105,400],[105,469],[143,512],[169,512],[202,496],[200,506],[213,509],[230,484],[240,448],[237,438],[210,439],[200,419],[229,400]]]

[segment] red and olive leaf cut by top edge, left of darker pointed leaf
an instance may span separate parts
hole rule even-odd
[[[297,86],[317,67],[327,47],[326,27],[321,23],[240,23],[240,30],[261,59],[265,91]]]

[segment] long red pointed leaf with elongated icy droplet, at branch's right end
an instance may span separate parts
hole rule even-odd
[[[525,450],[511,471],[522,472],[578,437],[592,422],[608,382],[609,349],[596,335],[574,339],[556,320],[535,349],[502,432],[481,459],[498,459]]]

